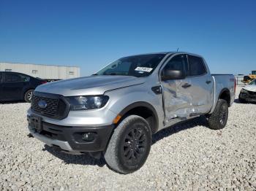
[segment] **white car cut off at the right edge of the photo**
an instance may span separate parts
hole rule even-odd
[[[252,82],[249,82],[249,85],[241,89],[239,101],[243,104],[256,101],[256,79],[253,79]]]

